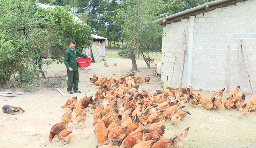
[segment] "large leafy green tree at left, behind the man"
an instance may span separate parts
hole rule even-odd
[[[91,46],[89,26],[74,22],[67,7],[43,9],[35,0],[3,0],[0,7],[0,88],[16,72],[20,84],[29,83],[39,71],[36,59],[42,49],[54,45],[65,50],[70,39],[77,40],[80,50]],[[59,50],[52,54],[62,62]]]

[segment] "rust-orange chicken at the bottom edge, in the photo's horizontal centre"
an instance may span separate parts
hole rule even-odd
[[[125,139],[123,139],[121,148],[132,148],[137,143],[141,142],[144,139],[144,130],[139,131],[137,133],[133,133],[128,135]]]

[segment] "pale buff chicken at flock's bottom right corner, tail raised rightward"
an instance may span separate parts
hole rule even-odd
[[[187,135],[188,135],[188,130],[189,130],[189,127],[187,127],[185,130],[182,130],[180,132],[176,132],[174,134],[171,135],[170,138],[174,139],[175,137],[177,137],[175,139],[175,141],[173,142],[174,145],[173,145],[173,148],[174,147],[182,147],[183,143],[187,141]]]

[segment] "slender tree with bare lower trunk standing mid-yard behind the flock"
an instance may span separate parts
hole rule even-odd
[[[134,48],[138,47],[138,37],[148,24],[156,20],[161,6],[160,0],[121,0],[122,9],[119,15],[123,18],[122,33],[125,34],[126,42],[129,42],[129,50],[133,67],[138,70]]]

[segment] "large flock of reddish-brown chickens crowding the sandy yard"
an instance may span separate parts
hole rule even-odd
[[[53,125],[49,135],[49,140],[58,135],[60,140],[65,140],[65,145],[75,136],[75,130],[67,129],[67,124],[73,122],[72,112],[76,117],[76,124],[83,124],[86,120],[85,109],[93,111],[92,123],[95,126],[94,133],[99,142],[98,148],[174,148],[182,147],[187,140],[189,127],[180,132],[174,133],[170,138],[161,139],[165,133],[165,120],[170,119],[176,126],[190,112],[185,108],[189,102],[192,107],[197,108],[197,104],[202,103],[206,110],[215,108],[220,112],[220,106],[223,102],[223,91],[225,88],[216,91],[209,99],[202,94],[195,93],[193,87],[177,88],[173,90],[163,87],[163,90],[156,90],[152,94],[144,89],[138,91],[140,83],[149,82],[150,78],[141,78],[135,73],[124,75],[123,73],[113,75],[110,79],[102,75],[99,78],[96,75],[90,78],[90,82],[99,87],[93,96],[85,95],[79,101],[73,96],[68,99],[61,108],[68,108],[68,111],[62,115],[61,123]],[[223,102],[224,107],[229,110],[236,107],[241,111],[239,118],[249,111],[251,105],[256,105],[256,96],[249,99],[249,104],[244,103],[245,95],[239,92],[238,86],[231,92],[230,97]],[[151,98],[153,101],[151,102]],[[103,101],[107,100],[106,107]],[[217,109],[218,108],[218,109]],[[251,109],[256,111],[256,109]],[[77,126],[76,126],[77,128]],[[144,140],[144,134],[146,134]],[[144,141],[143,141],[144,140]],[[62,146],[63,146],[62,145]]]

